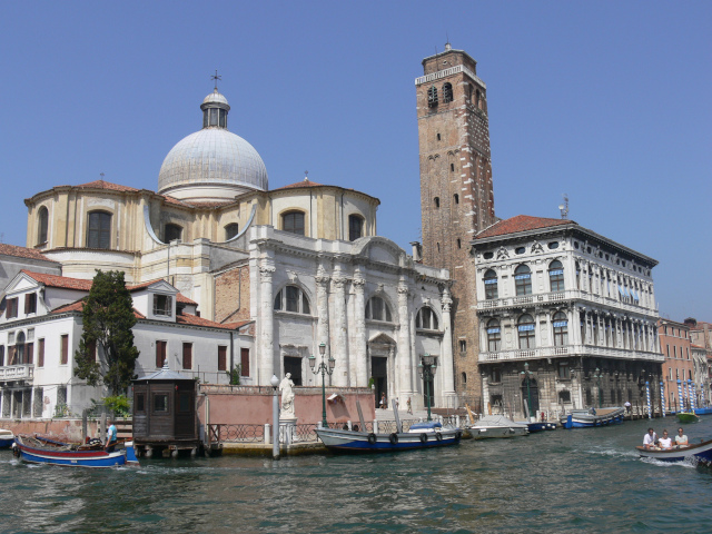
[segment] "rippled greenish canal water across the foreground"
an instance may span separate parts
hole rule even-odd
[[[31,466],[0,452],[0,532],[710,532],[712,469],[639,458],[647,426],[118,469]],[[678,427],[673,417],[652,426]],[[685,433],[712,437],[712,416]]]

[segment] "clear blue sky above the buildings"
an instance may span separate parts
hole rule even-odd
[[[304,170],[419,238],[414,79],[454,48],[487,83],[495,211],[571,218],[660,260],[660,312],[712,320],[712,2],[2,2],[3,241],[23,199],[155,190],[218,69],[271,188]]]

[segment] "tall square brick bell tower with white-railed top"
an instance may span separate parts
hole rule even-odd
[[[416,78],[421,152],[423,263],[447,268],[455,280],[455,389],[472,408],[481,402],[475,265],[469,241],[495,221],[485,82],[477,62],[449,43],[423,60]]]

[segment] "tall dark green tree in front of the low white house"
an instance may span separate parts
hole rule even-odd
[[[75,353],[75,375],[90,386],[105,384],[110,395],[126,393],[136,378],[134,368],[139,352],[134,346],[134,300],[123,281],[123,273],[97,270],[89,295],[83,299],[83,333]],[[101,348],[102,366],[95,355]],[[102,374],[103,370],[103,374]]]

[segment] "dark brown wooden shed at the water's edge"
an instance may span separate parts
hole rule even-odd
[[[196,390],[195,379],[170,370],[167,364],[134,380],[134,442],[139,454],[198,452]]]

